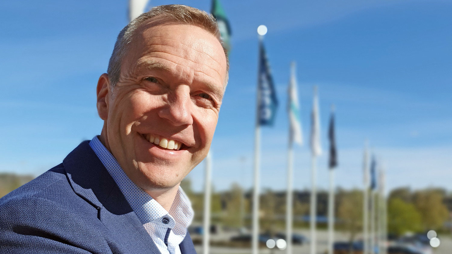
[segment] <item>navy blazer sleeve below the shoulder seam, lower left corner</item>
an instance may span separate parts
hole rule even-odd
[[[8,199],[0,214],[0,246],[6,248],[0,247],[0,253],[110,252],[98,220],[80,216],[53,200],[39,196]]]

